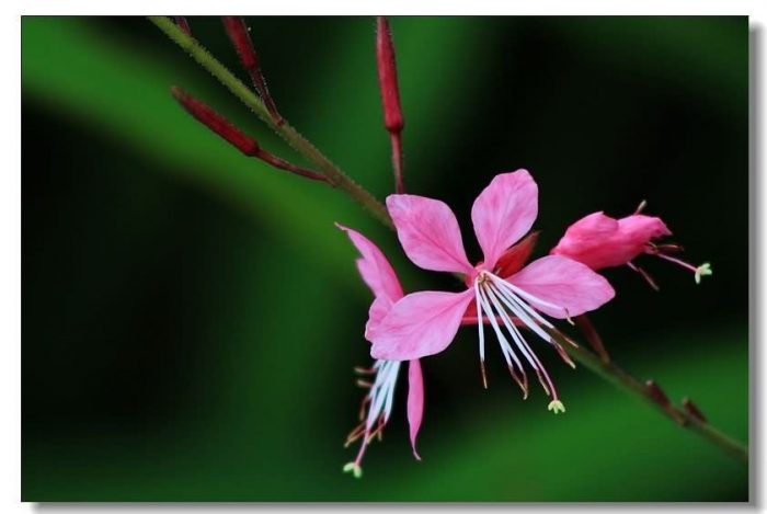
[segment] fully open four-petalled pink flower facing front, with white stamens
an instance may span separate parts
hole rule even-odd
[[[604,277],[584,264],[560,255],[538,259],[507,277],[500,275],[502,255],[528,232],[538,215],[538,186],[530,174],[526,170],[499,174],[474,201],[471,220],[484,253],[483,262],[476,266],[466,256],[458,221],[446,204],[423,196],[394,194],[387,198],[387,207],[408,258],[425,270],[465,275],[468,288],[461,293],[413,293],[397,301],[384,318],[371,317],[366,333],[373,342],[371,355],[407,361],[442,352],[455,338],[473,301],[478,318],[483,321],[479,323],[483,376],[486,320],[525,396],[527,377],[517,352],[536,372],[543,390],[552,396],[549,410],[564,411],[548,373],[512,317],[563,355],[548,332],[553,325],[540,312],[570,318],[600,307],[615,292]]]

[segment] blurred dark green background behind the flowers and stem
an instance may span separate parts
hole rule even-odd
[[[371,18],[247,18],[281,112],[348,174],[392,190]],[[195,36],[238,67],[222,25]],[[497,172],[540,186],[538,254],[579,217],[662,216],[687,272],[654,293],[609,270],[593,317],[614,358],[748,436],[746,18],[394,18],[409,191],[469,209]],[[181,85],[302,163],[141,18],[24,18],[25,501],[746,501],[746,466],[538,345],[568,407],[527,401],[476,331],[424,359],[422,462],[404,379],[384,442],[341,472],[370,295],[333,227],[408,290],[393,232],[321,184],[247,159],[173,102]],[[536,342],[537,344],[537,342]]]

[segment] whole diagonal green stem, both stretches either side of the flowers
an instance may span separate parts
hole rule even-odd
[[[186,35],[179,28],[173,21],[165,16],[150,16],[162,32],[168,35],[174,43],[185,49],[193,59],[195,59],[203,68],[208,70],[216,77],[229,91],[231,91],[242,103],[251,108],[266,125],[275,133],[282,136],[298,153],[312,162],[318,170],[328,176],[331,184],[354,198],[369,210],[378,220],[389,228],[393,228],[391,218],[386,210],[386,207],[374,197],[367,190],[348,178],[341,171],[330,159],[324,157],[312,144],[304,138],[295,128],[287,122],[277,125],[264,103],[256,96],[242,81],[234,77],[224,65],[213,57],[196,39]],[[564,341],[561,334],[553,333],[563,347],[573,359],[582,364],[587,369],[591,369],[602,378],[615,385],[626,393],[645,401],[657,409],[662,414],[669,418],[679,426],[690,430],[698,435],[705,437],[710,443],[724,450],[740,460],[748,461],[748,448],[729,437],[718,429],[714,429],[709,423],[699,421],[686,411],[675,407],[669,402],[659,401],[648,387],[629,375],[627,372],[616,366],[613,363],[604,362],[596,354],[592,353],[584,346],[572,346]]]

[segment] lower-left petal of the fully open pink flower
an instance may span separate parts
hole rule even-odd
[[[389,361],[411,361],[445,350],[458,332],[473,292],[426,290],[407,295],[393,305],[366,338],[370,355]]]

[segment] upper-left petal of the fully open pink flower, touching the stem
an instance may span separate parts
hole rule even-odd
[[[473,272],[456,216],[444,202],[416,195],[389,195],[386,206],[402,249],[417,266],[435,272]]]

